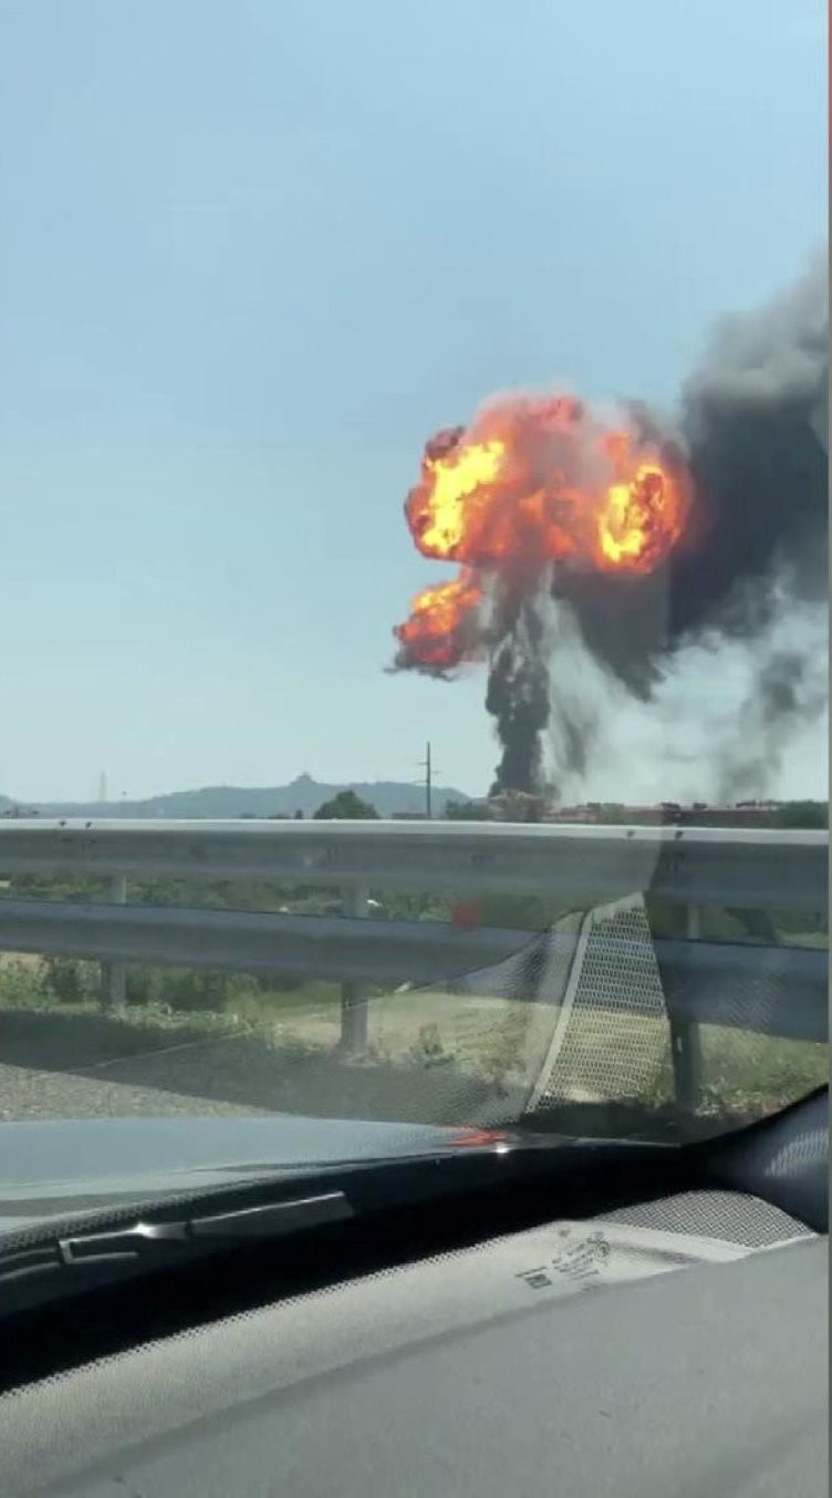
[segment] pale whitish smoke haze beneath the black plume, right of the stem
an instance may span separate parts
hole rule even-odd
[[[587,761],[558,777],[561,801],[726,803],[828,794],[828,613],[781,607],[756,640],[706,631],[664,664],[636,701],[560,610],[552,656],[552,761],[569,762],[564,724]],[[569,730],[566,730],[569,733]]]

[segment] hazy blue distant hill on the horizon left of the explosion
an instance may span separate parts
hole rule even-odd
[[[40,816],[171,816],[171,818],[236,818],[236,816],[293,816],[302,812],[311,816],[338,791],[352,789],[362,800],[371,801],[379,816],[397,813],[413,815],[425,809],[425,791],[420,785],[400,780],[343,780],[326,785],[313,780],[311,774],[299,774],[290,785],[207,785],[201,791],[171,791],[147,801],[33,801],[27,803]],[[444,812],[447,801],[467,801],[462,791],[452,786],[434,786],[434,812]],[[0,795],[0,813],[13,803]]]

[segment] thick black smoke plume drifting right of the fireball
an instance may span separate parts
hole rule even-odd
[[[679,547],[648,578],[555,577],[593,655],[639,697],[685,637],[751,638],[784,593],[825,596],[828,325],[820,267],[762,313],[727,319],[682,391],[696,503]]]

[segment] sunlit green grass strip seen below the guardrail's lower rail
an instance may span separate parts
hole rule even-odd
[[[290,1112],[361,1109],[365,1116],[409,1116],[426,1110],[434,1121],[507,1122],[525,1107],[548,1055],[557,1011],[522,999],[450,995],[415,989],[376,993],[368,999],[370,1046],[364,1056],[338,1053],[341,996],[335,984],[308,981],[268,987],[244,975],[218,975],[217,1007],[178,1010],[150,998],[118,1014],[102,1011],[96,974],[87,965],[79,992],[63,1002],[51,987],[45,962],[6,959],[0,966],[0,1011],[19,1014],[18,1049],[0,1059],[46,1070],[88,1070],[102,1062],[139,1068],[160,1053],[169,1056],[171,1091],[201,1095],[205,1086],[235,1101]],[[144,969],[142,969],[144,972]],[[199,975],[201,981],[205,974]],[[151,986],[153,987],[153,986]],[[157,989],[156,992],[165,992]],[[193,998],[193,990],[186,990]],[[25,1022],[25,1023],[24,1023]],[[1,1022],[0,1022],[1,1023]],[[712,1121],[745,1121],[775,1112],[820,1086],[828,1077],[828,1047],[780,1040],[727,1026],[700,1026],[702,1095],[699,1113]],[[21,1038],[22,1037],[22,1038]],[[221,1065],[209,1064],[189,1043],[235,1041]],[[254,1047],[254,1049],[253,1049]],[[209,1047],[205,1056],[217,1047]],[[271,1058],[271,1061],[269,1061]],[[361,1083],[344,1083],[355,1068]],[[224,1068],[224,1071],[223,1071]],[[232,1074],[233,1073],[233,1074]],[[257,1074],[257,1077],[254,1076]],[[132,1080],[124,1073],[123,1080]],[[153,1080],[148,1082],[153,1085]],[[224,1089],[224,1091],[223,1091]],[[314,1098],[314,1103],[313,1103]],[[338,1098],[346,1101],[338,1103]],[[642,1116],[673,1110],[669,1031],[661,1016],[625,1016],[596,1008],[570,1022],[551,1073],[542,1107],[602,1106],[609,1100],[637,1107]],[[452,1110],[462,1109],[461,1115]],[[474,1116],[476,1110],[482,1116]],[[485,1113],[482,1112],[485,1109]],[[431,1112],[432,1110],[432,1112]],[[420,1116],[420,1115],[419,1115]]]

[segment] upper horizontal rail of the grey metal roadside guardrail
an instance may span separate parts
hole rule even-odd
[[[826,909],[828,834],[500,822],[0,822],[0,876],[274,879]]]

